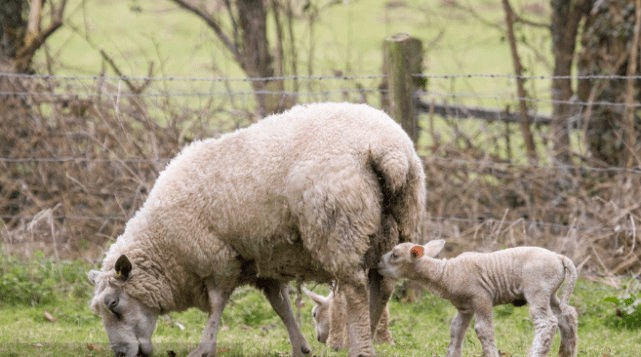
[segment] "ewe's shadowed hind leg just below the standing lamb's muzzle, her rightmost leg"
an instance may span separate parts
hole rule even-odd
[[[387,302],[394,292],[394,281],[383,277],[378,270],[369,270],[369,317],[372,335],[377,337],[378,342],[394,342],[387,326],[387,319],[382,325],[381,317],[386,312]],[[379,332],[380,331],[380,332]],[[383,339],[381,341],[381,339]]]

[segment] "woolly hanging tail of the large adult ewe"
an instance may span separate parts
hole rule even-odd
[[[379,155],[371,152],[370,158],[383,192],[383,212],[391,214],[398,224],[401,242],[419,242],[426,200],[421,160],[413,148],[388,148]]]

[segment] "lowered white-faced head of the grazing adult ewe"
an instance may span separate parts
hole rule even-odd
[[[91,308],[102,317],[116,357],[151,356],[151,335],[159,311],[125,291],[133,269],[125,255],[118,258],[114,269],[115,274],[89,271],[89,281],[96,284]]]

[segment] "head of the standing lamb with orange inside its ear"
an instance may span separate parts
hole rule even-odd
[[[445,244],[444,240],[433,240],[425,245],[401,243],[381,257],[378,272],[388,278],[407,278],[408,273],[415,271],[413,265],[424,257],[435,257]]]

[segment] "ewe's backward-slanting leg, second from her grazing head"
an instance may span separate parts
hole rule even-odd
[[[280,319],[283,320],[285,328],[287,328],[289,342],[292,345],[292,356],[308,355],[312,351],[312,348],[307,343],[294,318],[292,304],[289,301],[289,288],[287,284],[274,279],[259,279],[257,285],[263,290],[272,308],[274,308],[274,311],[276,311]]]

